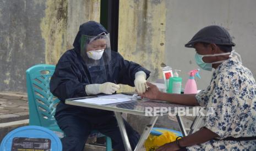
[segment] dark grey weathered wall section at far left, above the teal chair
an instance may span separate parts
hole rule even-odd
[[[0,1],[0,91],[25,91],[25,71],[44,63],[44,1]]]

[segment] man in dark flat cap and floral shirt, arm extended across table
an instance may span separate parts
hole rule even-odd
[[[230,34],[220,26],[204,27],[185,45],[195,49],[199,67],[215,69],[209,86],[198,94],[167,94],[148,83],[150,88],[143,97],[214,111],[205,117],[199,131],[158,151],[256,150],[256,83],[233,46]]]

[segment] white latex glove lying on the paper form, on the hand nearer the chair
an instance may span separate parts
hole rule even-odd
[[[103,84],[88,84],[85,86],[85,92],[87,95],[96,95],[100,93],[113,94],[119,88],[119,85],[111,82]]]

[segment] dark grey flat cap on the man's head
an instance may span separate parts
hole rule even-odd
[[[195,43],[213,43],[219,45],[230,45],[235,46],[236,44],[232,42],[230,34],[221,26],[207,26],[198,31],[195,36],[185,44],[185,47],[193,48]]]

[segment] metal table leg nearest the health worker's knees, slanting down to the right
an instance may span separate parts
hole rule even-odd
[[[130,142],[129,142],[127,132],[126,132],[126,127],[123,124],[122,115],[121,115],[120,112],[115,112],[115,116],[116,116],[116,119],[117,119],[119,130],[121,132],[122,139],[123,139],[124,149],[126,149],[126,151],[131,151],[132,148],[130,147]]]

